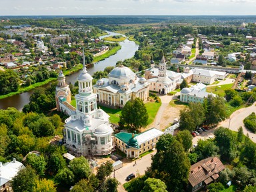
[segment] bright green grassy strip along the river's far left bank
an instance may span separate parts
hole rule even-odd
[[[119,45],[118,47],[112,48],[111,50],[105,52],[105,54],[102,54],[100,56],[95,56],[95,58],[93,58],[93,62],[99,62],[100,60],[104,60],[105,58],[108,58],[109,56],[115,54],[119,49],[121,49],[121,45]],[[90,65],[90,64],[87,64],[87,65]],[[70,74],[73,74],[74,72],[77,72],[82,68],[83,68],[83,64],[78,64],[77,66],[74,66],[73,68],[71,68],[71,70],[64,70],[63,74],[65,74],[65,76],[69,76]],[[55,80],[57,80],[57,78],[48,78],[43,82],[37,82],[35,84],[31,84],[30,86],[23,87],[23,88],[20,87],[17,92],[10,92],[9,94],[1,95],[0,100],[3,98],[8,98],[9,96],[13,96],[15,94],[28,92],[29,90],[33,90],[34,88],[37,88],[39,86],[44,86],[45,84],[48,84],[49,82],[53,82]]]

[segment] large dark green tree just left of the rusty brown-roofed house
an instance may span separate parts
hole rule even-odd
[[[164,181],[167,191],[181,191],[187,185],[190,168],[183,146],[173,136],[166,134],[161,136],[156,149],[147,175]]]

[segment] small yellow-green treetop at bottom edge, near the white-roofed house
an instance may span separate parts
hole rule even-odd
[[[56,192],[56,188],[50,179],[37,179],[33,192]]]

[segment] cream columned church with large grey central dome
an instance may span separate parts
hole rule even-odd
[[[109,73],[109,78],[101,78],[93,86],[97,94],[97,102],[113,107],[123,108],[131,98],[149,97],[149,82],[137,75],[126,66],[117,66]]]

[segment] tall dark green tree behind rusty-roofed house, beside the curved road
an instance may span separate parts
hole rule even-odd
[[[215,142],[219,147],[221,159],[231,161],[235,157],[235,137],[231,130],[227,128],[219,128],[215,130]]]

